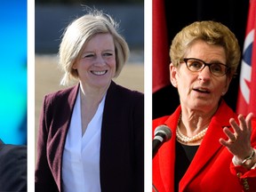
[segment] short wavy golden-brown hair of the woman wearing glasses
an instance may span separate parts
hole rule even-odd
[[[230,68],[228,76],[236,74],[236,68],[241,58],[236,36],[226,26],[212,20],[196,21],[182,28],[172,40],[170,49],[172,64],[178,67],[190,45],[199,39],[207,44],[222,46],[226,52],[226,64]]]

